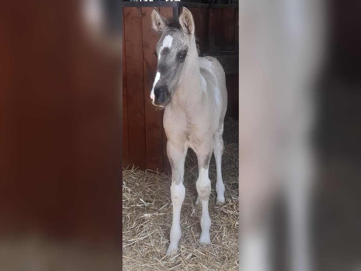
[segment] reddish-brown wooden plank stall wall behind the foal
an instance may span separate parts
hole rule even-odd
[[[167,138],[162,124],[164,111],[157,110],[149,99],[157,66],[153,52],[160,38],[152,29],[153,9],[123,8],[123,167],[134,163],[142,170],[169,172]],[[209,50],[238,48],[235,8],[188,9],[195,20],[200,55]],[[167,19],[181,12],[181,8],[175,7],[157,7],[157,10]],[[226,82],[229,96],[226,116],[238,118],[238,93],[234,94],[238,91],[238,76],[227,75]]]

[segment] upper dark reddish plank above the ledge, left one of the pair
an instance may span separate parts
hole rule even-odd
[[[222,50],[222,9],[209,9],[209,50]]]

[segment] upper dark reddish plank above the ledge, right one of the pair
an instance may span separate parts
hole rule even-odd
[[[222,50],[234,51],[235,44],[235,9],[222,9]]]

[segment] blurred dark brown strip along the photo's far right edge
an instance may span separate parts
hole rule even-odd
[[[327,2],[329,52],[319,91],[320,179],[314,203],[316,270],[361,263],[361,3]]]

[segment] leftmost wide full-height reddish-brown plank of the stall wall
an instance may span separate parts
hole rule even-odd
[[[142,9],[123,8],[130,163],[146,169]]]

